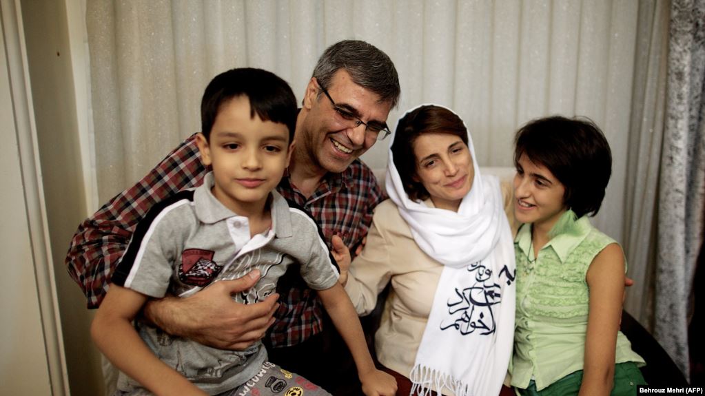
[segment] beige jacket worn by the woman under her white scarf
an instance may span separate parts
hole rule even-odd
[[[510,182],[502,182],[501,188],[505,213],[514,234],[517,225]],[[425,203],[433,206],[431,199]],[[345,291],[357,313],[365,315],[374,309],[377,295],[391,281],[374,345],[379,362],[404,376],[409,376],[414,366],[442,271],[443,265],[416,245],[396,205],[389,199],[379,204],[367,244],[350,265]]]

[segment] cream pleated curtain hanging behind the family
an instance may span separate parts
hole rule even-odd
[[[266,68],[301,99],[326,47],[363,39],[385,51],[400,76],[402,97],[389,125],[423,102],[449,106],[470,128],[482,166],[512,166],[514,132],[532,118],[580,115],[600,125],[613,175],[594,224],[623,242],[637,280],[627,309],[648,324],[669,4],[87,1],[99,201],[199,131],[200,97],[214,75]],[[378,143],[363,159],[382,168],[386,149],[387,142]]]

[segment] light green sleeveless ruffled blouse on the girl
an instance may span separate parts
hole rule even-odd
[[[582,370],[589,308],[585,276],[594,257],[615,243],[573,211],[563,214],[549,236],[535,260],[531,224],[522,225],[514,241],[517,312],[510,372],[518,388],[527,388],[533,378],[541,390]],[[644,364],[621,332],[615,358]]]

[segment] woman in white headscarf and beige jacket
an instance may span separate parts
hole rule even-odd
[[[423,105],[399,120],[386,190],[345,284],[368,314],[391,283],[375,335],[380,363],[398,395],[497,395],[514,331],[510,187],[480,175],[458,115]]]

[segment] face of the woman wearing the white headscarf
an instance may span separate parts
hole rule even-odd
[[[427,133],[414,142],[416,176],[437,208],[458,211],[475,172],[467,144],[449,133]]]

